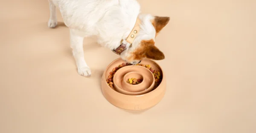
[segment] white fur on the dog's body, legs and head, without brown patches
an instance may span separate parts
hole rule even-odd
[[[120,45],[130,34],[137,17],[141,20],[140,32],[131,48],[120,55],[126,60],[142,40],[155,38],[156,31],[151,23],[154,18],[150,14],[140,14],[140,5],[136,0],[49,0],[50,18],[48,27],[57,25],[56,7],[61,11],[65,25],[70,28],[70,45],[76,60],[78,73],[90,76],[91,71],[84,60],[83,39],[96,35],[98,43],[111,50]],[[130,61],[137,64],[138,60]]]

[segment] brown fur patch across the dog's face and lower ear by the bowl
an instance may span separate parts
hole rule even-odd
[[[161,60],[164,59],[164,54],[155,45],[154,40],[142,40],[140,47],[137,48],[128,60],[142,60],[144,58]]]

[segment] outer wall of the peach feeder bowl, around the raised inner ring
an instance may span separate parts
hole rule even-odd
[[[161,101],[161,99],[163,98],[163,96],[166,92],[166,75],[163,72],[160,65],[158,65],[156,62],[154,62],[153,60],[150,60],[150,59],[142,60],[140,62],[140,64],[151,65],[151,67],[154,68],[154,70],[160,71],[161,76],[162,76],[162,81],[157,86],[157,88],[155,88],[152,91],[149,91],[149,92],[143,93],[143,94],[138,94],[138,95],[129,95],[129,94],[124,94],[124,93],[117,91],[115,85],[113,85],[113,88],[111,88],[108,85],[108,83],[106,82],[106,80],[108,79],[108,76],[110,75],[110,72],[113,70],[113,68],[118,67],[122,63],[126,63],[126,62],[123,61],[121,58],[114,60],[113,62],[111,62],[108,65],[108,67],[106,68],[106,70],[104,71],[104,73],[102,75],[102,93],[105,96],[105,98],[108,100],[108,102],[110,102],[112,105],[115,105],[118,108],[122,108],[122,109],[126,109],[126,110],[144,110],[147,108],[151,108],[154,105],[157,105],[157,103]],[[125,66],[125,67],[120,68],[118,71],[120,71],[122,69],[125,70],[130,66],[134,66],[134,68],[135,68],[136,65]],[[142,67],[142,66],[137,66],[137,67]],[[116,71],[116,73],[114,74],[114,77],[117,76],[116,74],[118,74],[118,71]],[[132,71],[134,71],[134,70],[130,70],[127,73],[130,73]],[[123,75],[123,76],[125,76],[125,75]],[[144,75],[144,78],[145,78],[145,75]],[[115,83],[115,82],[113,82],[113,83]]]

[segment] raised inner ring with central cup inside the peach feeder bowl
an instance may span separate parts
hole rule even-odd
[[[131,78],[142,79],[138,85],[132,85],[126,81]],[[120,68],[113,77],[113,86],[116,91],[126,95],[140,95],[153,90],[155,84],[154,75],[147,68],[139,65],[128,65]]]

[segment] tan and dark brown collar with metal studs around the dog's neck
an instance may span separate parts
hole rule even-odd
[[[134,28],[131,30],[131,33],[129,34],[129,36],[125,39],[126,42],[129,42],[132,45],[132,42],[134,41],[135,37],[138,35],[139,31],[140,31],[140,19],[137,18],[136,23],[134,25]],[[131,47],[130,45],[130,47]],[[123,43],[123,40],[121,40],[119,47],[117,47],[116,49],[112,50],[114,53],[116,54],[121,54],[123,51],[125,51],[126,49],[126,44]]]

